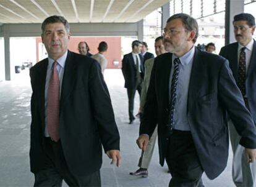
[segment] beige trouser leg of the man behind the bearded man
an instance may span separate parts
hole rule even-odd
[[[150,140],[148,141],[147,150],[142,151],[142,155],[140,156],[140,160],[139,160],[139,164],[138,164],[139,167],[148,169],[148,166],[150,164],[150,161],[151,161],[151,158],[153,155],[153,151],[154,151],[154,147],[155,147],[155,143],[156,143],[156,137],[157,137],[157,125],[156,125],[154,132],[152,133],[152,135],[150,137]]]

